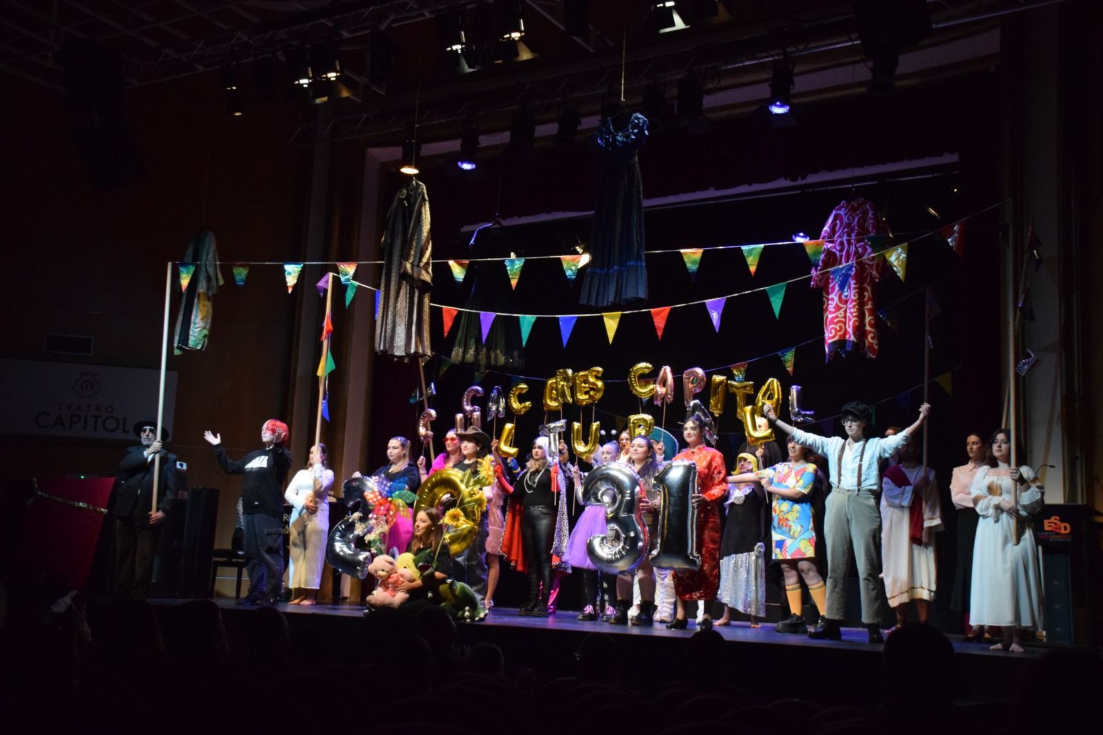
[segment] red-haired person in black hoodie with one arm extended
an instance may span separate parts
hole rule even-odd
[[[226,475],[245,475],[242,511],[245,520],[245,568],[249,594],[239,605],[275,605],[283,580],[283,481],[291,468],[287,424],[275,418],[260,427],[265,448],[233,460],[222,435],[204,432],[215,459]]]

